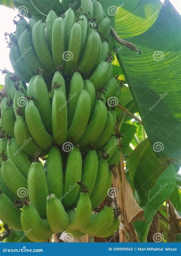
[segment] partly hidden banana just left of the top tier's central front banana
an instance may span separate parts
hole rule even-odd
[[[57,15],[53,10],[51,10],[48,15],[47,15],[47,20],[46,20],[46,36],[47,36],[47,44],[48,44],[48,49],[50,53],[52,53],[52,30],[53,30],[53,24],[54,21],[57,19]]]

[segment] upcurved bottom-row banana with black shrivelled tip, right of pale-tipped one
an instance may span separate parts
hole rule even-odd
[[[84,184],[80,183],[82,186],[79,200],[76,206],[76,210],[71,210],[69,212],[69,228],[72,230],[80,230],[86,228],[89,224],[90,216],[92,213],[92,205],[89,199],[89,190]]]

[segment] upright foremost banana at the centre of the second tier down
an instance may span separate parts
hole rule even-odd
[[[66,142],[68,135],[67,103],[59,84],[55,89],[52,101],[52,131],[53,139],[61,145]]]

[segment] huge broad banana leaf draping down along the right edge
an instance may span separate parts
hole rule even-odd
[[[156,154],[163,162],[176,163],[181,155],[180,21],[167,1],[147,31],[126,38],[142,50],[142,55],[126,47],[117,55]],[[115,28],[121,37],[117,16]]]

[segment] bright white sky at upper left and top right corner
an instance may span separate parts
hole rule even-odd
[[[161,0],[163,3],[164,0]],[[181,0],[170,0],[176,10],[181,13]],[[0,69],[8,69],[13,71],[9,60],[10,49],[6,48],[6,40],[4,33],[13,32],[16,26],[13,24],[13,18],[17,15],[17,10],[13,10],[4,6],[0,6]],[[4,84],[4,77],[0,73],[0,84]]]

